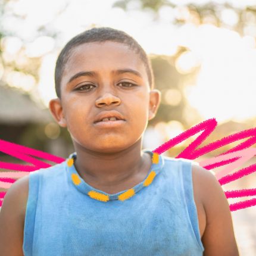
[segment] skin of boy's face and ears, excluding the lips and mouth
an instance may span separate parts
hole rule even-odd
[[[138,54],[122,43],[93,42],[73,49],[61,80],[61,101],[52,99],[49,108],[58,124],[67,127],[76,150],[110,153],[141,139],[160,99],[159,90],[149,90]],[[94,123],[99,113],[113,110],[125,119],[122,124],[101,127]]]

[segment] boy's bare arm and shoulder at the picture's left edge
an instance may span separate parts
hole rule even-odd
[[[8,189],[0,210],[0,256],[23,256],[24,217],[29,176],[15,181]]]

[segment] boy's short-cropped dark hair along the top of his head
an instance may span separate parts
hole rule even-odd
[[[124,43],[125,45],[129,46],[130,49],[133,49],[136,54],[139,54],[139,57],[141,58],[146,68],[149,86],[151,89],[154,88],[154,74],[152,72],[151,61],[149,60],[148,55],[143,50],[141,45],[139,45],[139,43],[134,38],[132,38],[132,36],[129,36],[127,33],[121,30],[112,29],[110,27],[97,27],[86,30],[79,35],[74,36],[74,38],[67,42],[67,44],[58,55],[55,66],[55,91],[58,98],[61,98],[61,79],[65,69],[65,64],[71,55],[71,51],[76,48],[76,46],[82,45],[83,43],[105,41]]]

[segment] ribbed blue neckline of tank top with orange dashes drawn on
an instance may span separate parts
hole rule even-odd
[[[110,194],[99,189],[93,188],[88,183],[86,183],[85,180],[82,179],[82,177],[80,177],[79,173],[76,170],[76,167],[74,166],[76,152],[71,153],[64,163],[66,170],[68,171],[68,178],[71,180],[76,189],[78,189],[80,192],[85,193],[86,195],[90,196],[90,198],[96,199],[98,201],[124,201],[136,195],[136,193],[138,193],[143,187],[151,185],[155,176],[157,176],[157,174],[164,166],[164,158],[161,155],[152,152],[149,149],[142,149],[142,152],[149,152],[149,154],[151,154],[152,160],[151,167],[145,179],[131,189],[126,189],[124,191],[120,191],[114,194]]]

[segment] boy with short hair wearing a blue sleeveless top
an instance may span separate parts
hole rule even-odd
[[[91,29],[61,51],[49,109],[75,152],[8,190],[1,255],[236,256],[220,184],[192,161],[141,151],[161,93],[124,32]]]

